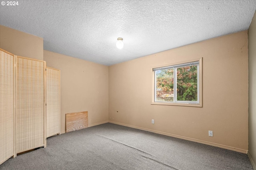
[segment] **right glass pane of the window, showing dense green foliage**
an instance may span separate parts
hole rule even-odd
[[[197,66],[177,68],[177,101],[197,101]]]

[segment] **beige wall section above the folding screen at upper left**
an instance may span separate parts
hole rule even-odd
[[[3,25],[0,25],[0,48],[14,55],[44,59],[44,39]]]

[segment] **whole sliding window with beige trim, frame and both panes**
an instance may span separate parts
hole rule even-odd
[[[152,104],[202,107],[201,60],[152,68]]]

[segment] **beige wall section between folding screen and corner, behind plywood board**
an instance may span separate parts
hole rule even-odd
[[[88,111],[88,126],[108,122],[108,66],[44,50],[46,66],[60,70],[60,131],[65,114]]]

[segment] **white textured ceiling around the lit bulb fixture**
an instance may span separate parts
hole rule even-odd
[[[45,50],[108,66],[244,31],[256,9],[256,0],[17,1],[0,6],[1,25],[44,38]]]

